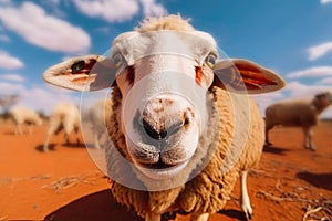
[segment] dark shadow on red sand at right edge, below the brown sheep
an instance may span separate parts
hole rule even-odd
[[[308,171],[298,172],[297,177],[299,179],[305,180],[310,185],[324,188],[326,190],[332,190],[332,173],[313,173]]]

